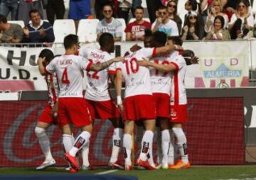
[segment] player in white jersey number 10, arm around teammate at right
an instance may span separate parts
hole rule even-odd
[[[174,50],[174,48],[173,45],[158,48],[142,48],[125,57],[124,63],[119,63],[125,81],[123,147],[126,170],[132,169],[131,149],[135,120],[143,120],[145,127],[145,133],[142,137],[142,150],[137,159],[137,164],[146,169],[154,169],[154,167],[149,164],[147,155],[152,148],[156,107],[151,93],[149,69],[140,67],[137,64],[137,60],[154,57],[159,53],[170,52]],[[120,108],[122,108],[121,82],[122,76],[118,75],[117,104]]]

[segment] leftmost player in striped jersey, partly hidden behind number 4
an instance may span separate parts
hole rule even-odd
[[[44,66],[53,60],[53,52],[48,49],[44,49],[39,54],[39,59],[44,58]],[[58,79],[56,74],[46,74],[45,75],[47,89],[48,89],[48,106],[44,109],[41,116],[38,118],[38,122],[36,123],[35,133],[36,137],[38,137],[38,142],[41,147],[43,154],[46,159],[39,167],[36,167],[37,170],[46,169],[47,167],[53,166],[56,164],[53,156],[50,152],[50,141],[48,136],[46,135],[46,130],[50,127],[50,125],[57,123],[57,101],[58,101]]]

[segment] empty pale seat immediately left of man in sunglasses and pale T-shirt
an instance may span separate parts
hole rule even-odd
[[[98,19],[82,19],[78,24],[78,37],[81,43],[95,42]]]

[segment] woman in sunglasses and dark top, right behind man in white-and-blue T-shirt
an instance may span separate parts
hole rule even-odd
[[[166,6],[167,6],[168,18],[170,18],[171,20],[177,23],[178,32],[181,33],[182,20],[177,15],[177,1],[175,0],[168,1]]]

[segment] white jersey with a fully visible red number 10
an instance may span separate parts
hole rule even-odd
[[[137,61],[154,57],[155,50],[155,48],[142,48],[125,57],[124,63],[118,63],[125,81],[125,98],[152,94],[149,69],[139,66]]]

